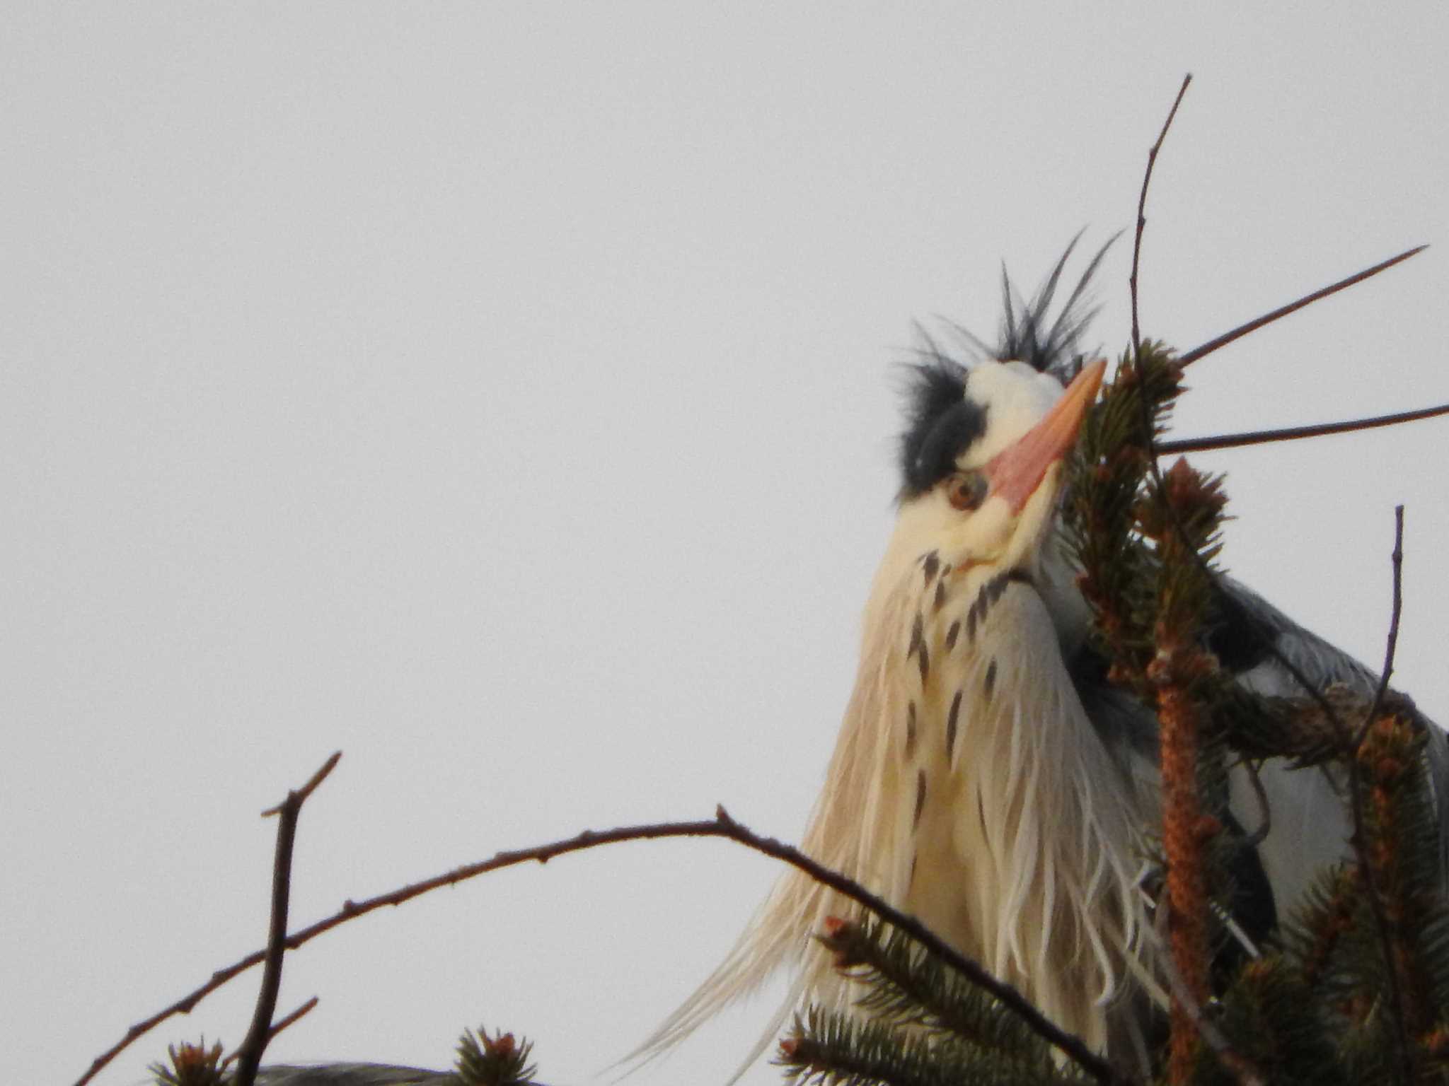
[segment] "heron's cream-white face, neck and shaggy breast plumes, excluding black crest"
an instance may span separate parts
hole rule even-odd
[[[981,437],[903,504],[804,849],[1104,1044],[1103,1008],[1142,941],[1151,795],[1095,740],[1064,666],[1075,624],[1059,628],[1046,602],[1075,595],[1051,530],[1059,465],[1043,465],[1019,510],[1000,478],[958,508],[962,476],[1032,433],[1062,387],[1020,362],[971,379],[987,405]],[[790,896],[775,922],[790,911],[806,933],[843,911],[814,886]],[[806,986],[849,998],[826,956],[810,960]]]

